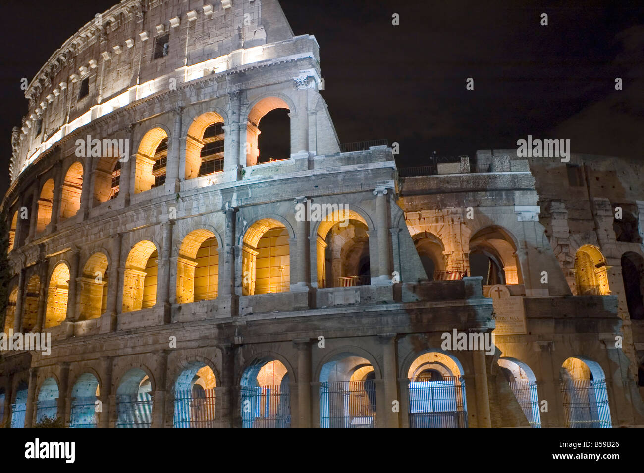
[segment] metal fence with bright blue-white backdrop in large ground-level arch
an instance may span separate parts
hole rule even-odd
[[[410,429],[467,429],[465,378],[409,380]]]

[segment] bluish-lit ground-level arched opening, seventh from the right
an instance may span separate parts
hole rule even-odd
[[[152,424],[152,384],[142,369],[123,375],[117,389],[117,429],[149,429]]]

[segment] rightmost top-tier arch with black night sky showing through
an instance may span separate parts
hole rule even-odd
[[[278,97],[257,102],[248,114],[246,166],[290,159],[289,105]],[[261,126],[260,126],[261,122]],[[288,124],[286,126],[285,124]],[[260,137],[260,133],[264,135]],[[260,144],[262,147],[260,152]]]

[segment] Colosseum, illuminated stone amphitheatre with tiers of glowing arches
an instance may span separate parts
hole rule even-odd
[[[398,167],[277,0],[196,4],[124,0],[28,84],[3,427],[644,425],[641,165]]]

